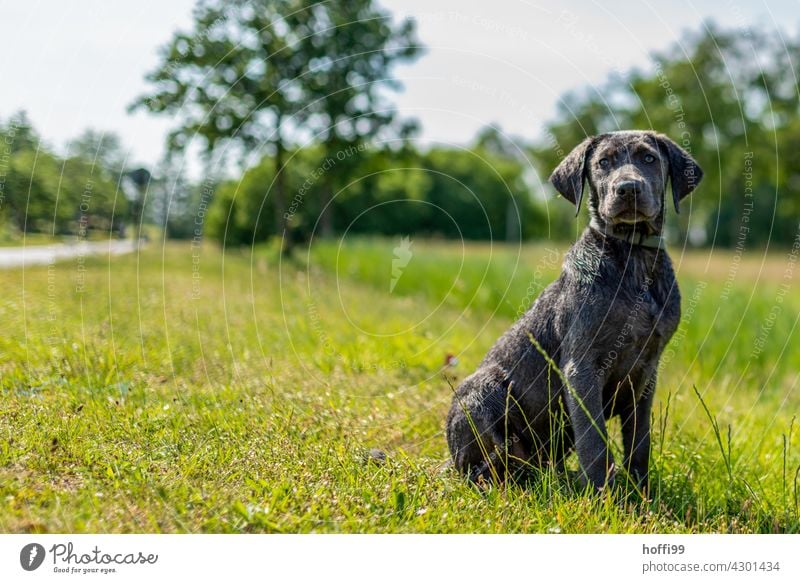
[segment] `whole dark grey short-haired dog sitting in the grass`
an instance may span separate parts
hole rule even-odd
[[[687,152],[649,131],[587,138],[556,168],[551,183],[578,209],[588,182],[592,222],[560,277],[456,390],[447,442],[460,472],[502,480],[561,468],[575,449],[583,479],[603,488],[615,474],[606,420],[619,415],[625,468],[647,487],[658,360],[680,319],[672,264],[652,239],[668,181],[677,211],[701,178]]]

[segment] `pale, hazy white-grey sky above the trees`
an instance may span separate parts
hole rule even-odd
[[[535,139],[566,91],[651,67],[653,51],[679,43],[713,18],[728,28],[759,24],[796,34],[800,2],[565,0],[380,0],[412,17],[427,47],[393,74],[400,113],[420,140],[469,142],[487,124]],[[612,6],[613,4],[613,6]],[[127,106],[176,29],[191,27],[193,0],[0,0],[0,118],[24,109],[63,151],[91,127],[120,135],[130,161],[154,165],[171,124]],[[672,50],[680,50],[680,46]]]

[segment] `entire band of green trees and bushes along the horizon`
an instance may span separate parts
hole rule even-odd
[[[277,238],[284,250],[345,231],[566,239],[574,209],[555,199],[550,171],[587,135],[651,128],[705,171],[681,215],[668,214],[674,242],[797,235],[800,37],[706,23],[647,71],[565,95],[536,141],[487,127],[464,147],[415,145],[416,123],[389,102],[392,68],[421,50],[414,23],[373,0],[201,0],[131,106],[175,120],[165,160],[131,172],[119,140],[97,132],[57,155],[24,115],[6,120],[4,232],[121,233],[146,221],[168,237]],[[207,170],[196,183],[181,158],[193,144]]]

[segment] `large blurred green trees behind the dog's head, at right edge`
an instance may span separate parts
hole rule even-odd
[[[797,38],[705,23],[680,45],[655,54],[653,70],[567,95],[532,154],[546,176],[587,135],[627,128],[666,133],[705,172],[688,212],[667,215],[680,239],[693,232],[703,234],[696,242],[726,246],[742,237],[746,243],[789,242],[800,206],[800,100],[786,72],[797,69],[798,55]]]

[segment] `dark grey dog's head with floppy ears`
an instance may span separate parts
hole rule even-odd
[[[589,207],[607,225],[661,230],[667,180],[675,210],[703,172],[675,142],[654,132],[624,131],[584,140],[555,169],[550,182],[579,209],[589,183]]]

